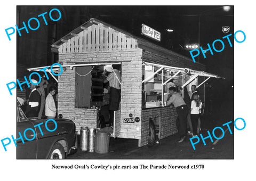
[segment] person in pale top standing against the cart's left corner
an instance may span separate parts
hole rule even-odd
[[[54,119],[56,116],[57,109],[53,99],[56,90],[56,87],[51,86],[49,88],[49,94],[47,95],[45,100],[45,116],[47,116],[47,119]]]

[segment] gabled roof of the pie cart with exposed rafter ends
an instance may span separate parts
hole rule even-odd
[[[178,57],[178,59],[185,59],[187,61],[192,61],[191,59],[189,59],[186,56],[183,56],[183,55],[180,55],[180,54],[175,53],[173,51],[167,50],[166,48],[164,48],[162,46],[151,43],[148,40],[143,39],[141,37],[134,36],[130,32],[127,32],[125,30],[122,30],[120,28],[117,28],[115,26],[112,26],[111,24],[108,24],[106,22],[100,21],[100,20],[95,19],[95,18],[91,18],[89,21],[85,22],[84,24],[82,24],[78,28],[72,30],[71,32],[69,32],[69,34],[63,36],[62,38],[60,38],[57,42],[55,42],[51,46],[53,48],[59,48],[62,44],[68,42],[69,39],[77,36],[79,34],[79,32],[86,30],[88,27],[92,26],[93,24],[98,25],[99,23],[103,24],[103,26],[106,26],[106,27],[112,28],[116,31],[119,31],[122,34],[125,34],[125,36],[128,36],[128,37],[131,37],[131,38],[135,39],[138,43],[138,47],[142,48],[143,50],[154,51],[154,52],[157,52],[157,53],[162,53],[163,55]],[[200,64],[202,66],[205,66],[205,65],[203,65],[201,63],[198,63],[198,62],[196,62],[196,64]]]

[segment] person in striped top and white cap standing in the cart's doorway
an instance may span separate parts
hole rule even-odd
[[[109,82],[110,91],[109,91],[109,125],[113,128],[114,124],[114,111],[119,109],[119,103],[121,101],[121,74],[119,72],[119,65],[113,65],[112,67],[106,67],[103,75],[106,75],[107,72],[109,75],[103,80],[103,83]],[[114,71],[113,71],[114,70]]]

